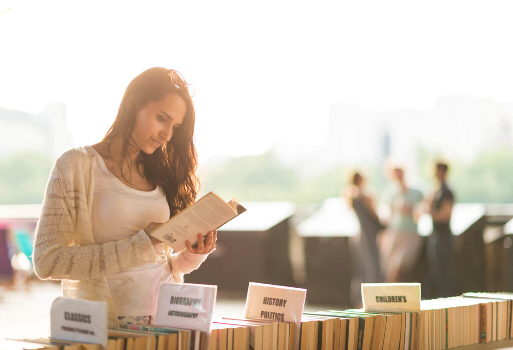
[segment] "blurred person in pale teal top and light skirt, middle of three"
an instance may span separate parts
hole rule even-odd
[[[423,195],[406,184],[403,168],[394,167],[391,179],[383,194],[383,201],[390,207],[390,220],[380,239],[381,265],[385,282],[406,282],[422,248],[417,219]]]

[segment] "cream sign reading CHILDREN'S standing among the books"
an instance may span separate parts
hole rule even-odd
[[[420,311],[420,283],[362,283],[365,310]]]

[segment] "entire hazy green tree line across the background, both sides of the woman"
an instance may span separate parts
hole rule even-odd
[[[440,154],[419,150],[419,174],[433,180],[433,164]],[[471,162],[447,160],[449,183],[458,202],[513,203],[513,150],[495,149]],[[0,159],[0,204],[41,203],[53,160],[43,153],[17,153]],[[379,198],[386,185],[382,167],[359,168],[368,179],[369,191]],[[215,191],[221,197],[244,201],[292,201],[320,203],[339,196],[352,167],[338,165],[305,177],[286,167],[272,152],[232,158],[206,167],[201,192]]]

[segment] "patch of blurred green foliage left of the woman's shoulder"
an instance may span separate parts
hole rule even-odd
[[[16,153],[0,159],[0,204],[43,202],[53,161],[43,153]]]

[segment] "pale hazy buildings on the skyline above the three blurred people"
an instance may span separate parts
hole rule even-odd
[[[327,151],[346,164],[380,164],[391,157],[416,169],[420,148],[471,161],[485,150],[511,147],[512,125],[512,104],[471,96],[444,96],[429,111],[376,112],[335,104]]]

